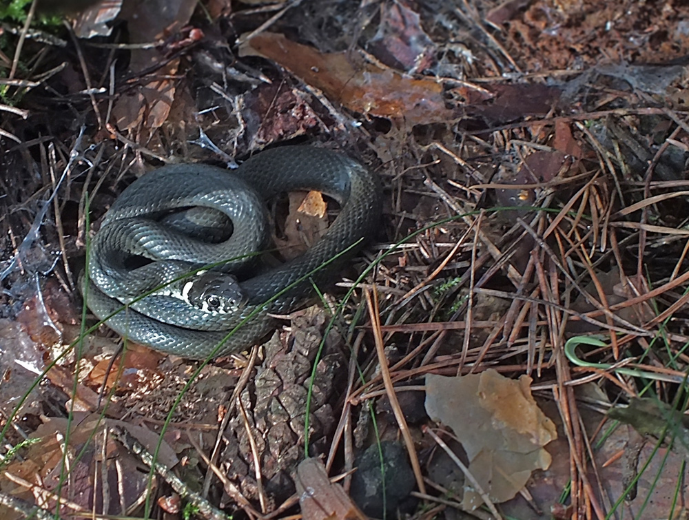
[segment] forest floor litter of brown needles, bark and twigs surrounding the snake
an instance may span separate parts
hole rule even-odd
[[[50,25],[19,3],[0,10],[3,518],[58,496],[64,518],[686,514],[688,7],[103,0]],[[127,345],[111,366],[119,338],[76,289],[107,207],[154,167],[287,142],[378,171],[362,257],[243,357]],[[285,250],[332,213],[296,197],[271,208]],[[473,397],[520,388],[509,406],[547,427],[463,449],[424,384],[467,374],[514,379]],[[536,463],[510,496],[484,489],[517,452]]]

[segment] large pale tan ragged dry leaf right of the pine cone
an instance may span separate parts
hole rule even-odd
[[[469,458],[469,471],[491,500],[514,497],[551,456],[543,448],[557,438],[555,424],[531,396],[531,377],[508,379],[492,368],[459,377],[426,375],[426,412],[452,428]],[[462,505],[473,510],[483,499],[464,487]]]

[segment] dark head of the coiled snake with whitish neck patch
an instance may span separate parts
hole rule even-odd
[[[247,302],[247,296],[233,275],[214,271],[196,273],[185,283],[182,298],[208,313],[234,312]]]

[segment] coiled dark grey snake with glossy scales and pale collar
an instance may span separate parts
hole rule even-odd
[[[299,190],[330,196],[340,213],[301,256],[247,275],[268,247],[265,203]],[[271,330],[269,313],[294,310],[360,249],[381,202],[372,171],[316,147],[268,149],[232,171],[165,166],[105,214],[83,295],[111,329],[158,351],[192,359],[242,351]]]

